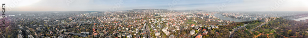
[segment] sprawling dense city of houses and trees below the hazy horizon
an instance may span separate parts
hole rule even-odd
[[[261,36],[261,38],[306,38],[308,36],[307,19],[295,21],[302,22],[299,25],[304,25],[298,29],[281,27],[271,23],[276,23],[275,20],[278,19],[286,19],[282,17],[284,15],[278,16],[274,13],[220,13],[168,9],[14,13],[19,14],[6,18],[11,23],[8,28],[12,28],[8,29],[12,32],[7,33],[12,34],[7,35],[8,38],[259,38]],[[249,21],[222,20],[214,14]],[[286,26],[292,25],[298,24]],[[287,36],[284,34],[285,31],[289,33]],[[289,36],[290,34],[293,35]]]

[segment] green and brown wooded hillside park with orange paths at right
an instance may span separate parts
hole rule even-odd
[[[254,22],[253,24],[258,23]],[[265,25],[258,27],[254,31],[247,31],[247,29],[239,29],[243,31],[235,32],[235,38],[307,38],[308,26],[307,22],[300,22],[277,18],[271,20]],[[247,28],[247,26],[246,26]]]

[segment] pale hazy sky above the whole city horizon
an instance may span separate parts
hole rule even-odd
[[[308,11],[308,0],[0,0],[7,11]]]

